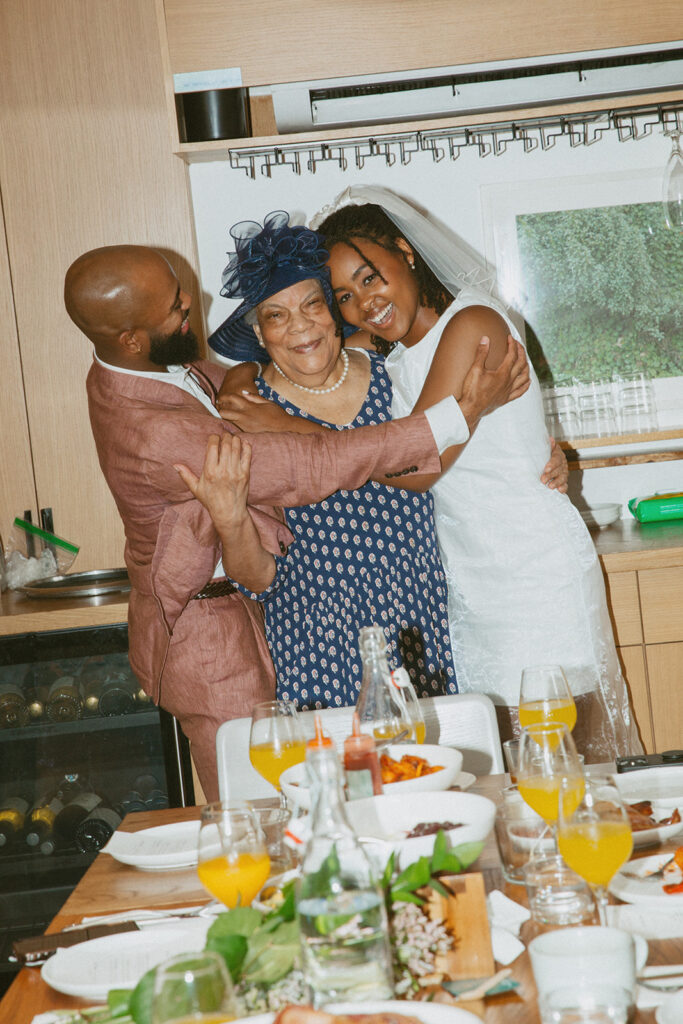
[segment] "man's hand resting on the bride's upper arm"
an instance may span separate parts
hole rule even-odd
[[[482,416],[519,398],[529,386],[524,346],[508,335],[508,350],[497,370],[486,370],[488,338],[479,342],[474,361],[463,381],[460,408],[472,430]]]

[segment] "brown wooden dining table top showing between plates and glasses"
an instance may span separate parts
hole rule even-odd
[[[595,766],[591,766],[593,768]],[[612,766],[613,770],[613,766]],[[469,790],[488,797],[495,803],[505,785],[508,775],[480,776]],[[128,814],[119,828],[137,831],[156,825],[199,819],[200,807],[171,808]],[[672,852],[677,843],[671,840],[657,847],[648,847],[642,853]],[[641,851],[638,851],[641,852]],[[523,886],[509,884],[503,877],[501,860],[494,835],[489,835],[477,861],[468,868],[480,872],[486,892],[500,890],[506,896],[526,906]],[[173,871],[142,871],[115,860],[103,851],[98,853],[63,906],[50,923],[46,934],[60,932],[78,925],[84,918],[130,911],[134,916],[140,909],[186,908],[206,904],[207,893],[200,884],[195,868]],[[588,924],[597,924],[597,919]],[[532,920],[522,925],[520,938],[526,944],[543,926]],[[648,940],[648,965],[663,966],[683,963],[683,936],[670,939]],[[477,1004],[466,1005],[479,1016],[484,1024],[540,1024],[537,990],[526,948],[510,965],[511,977],[518,987],[511,992],[486,997]],[[0,1024],[31,1024],[37,1014],[50,1010],[78,1010],[88,1006],[86,1000],[62,995],[42,979],[38,967],[20,970],[0,1001]],[[410,1010],[407,1004],[407,1013]],[[415,1009],[417,1011],[417,1006]],[[654,1010],[636,1011],[634,1024],[654,1024]]]

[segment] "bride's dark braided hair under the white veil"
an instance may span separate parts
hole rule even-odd
[[[382,207],[375,203],[344,206],[326,217],[318,225],[317,231],[324,237],[325,248],[328,252],[331,252],[332,247],[338,244],[348,246],[382,281],[384,278],[380,271],[353,240],[366,239],[368,242],[374,242],[388,252],[398,253],[408,262],[405,253],[396,243],[396,240],[402,239],[403,236]],[[453,296],[430,269],[418,250],[413,249],[413,253],[420,305],[434,309],[436,314],[440,316],[453,301]],[[394,345],[394,342],[385,341],[377,335],[371,335],[371,340],[377,351],[383,355],[388,355]]]

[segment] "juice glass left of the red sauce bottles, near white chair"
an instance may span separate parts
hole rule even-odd
[[[249,760],[280,791],[280,776],[306,758],[306,741],[291,700],[264,700],[252,711]]]

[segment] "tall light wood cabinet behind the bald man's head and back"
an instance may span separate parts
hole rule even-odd
[[[16,397],[6,269],[3,316],[3,475],[23,511],[37,504],[81,553],[75,569],[123,564],[123,528],[88,421],[87,339],[68,318],[63,276],[81,253],[137,243],[161,249],[197,294],[185,167],[171,153],[155,0],[3,0],[0,188],[26,387],[31,456]],[[199,303],[195,329],[201,333]],[[15,346],[15,341],[14,341]],[[8,384],[8,368],[10,381]],[[5,418],[15,438],[5,434]],[[24,482],[22,482],[24,477]],[[1,528],[1,527],[0,527]]]

